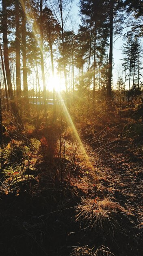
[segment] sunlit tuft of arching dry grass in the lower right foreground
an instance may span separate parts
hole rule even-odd
[[[110,237],[114,243],[117,240],[117,233],[126,234],[126,229],[120,224],[123,214],[128,213],[120,204],[109,199],[83,198],[82,204],[76,210],[76,221],[80,222],[82,229],[95,230],[100,233],[103,240]]]

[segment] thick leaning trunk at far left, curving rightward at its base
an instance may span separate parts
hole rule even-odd
[[[13,88],[11,83],[11,74],[9,68],[9,52],[8,52],[8,40],[7,40],[7,12],[6,12],[6,0],[2,0],[2,15],[3,15],[3,43],[4,43],[4,64],[6,70],[6,80],[9,92],[9,98],[11,102],[11,108],[15,119],[20,125],[22,125],[22,120],[19,115],[19,111],[14,101]]]

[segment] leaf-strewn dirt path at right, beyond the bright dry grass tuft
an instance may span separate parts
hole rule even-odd
[[[123,144],[124,143],[124,144]],[[100,168],[107,182],[104,186],[113,191],[115,199],[138,218],[143,217],[143,179],[141,163],[129,162],[128,141],[122,141],[101,155]],[[143,167],[143,166],[142,166]]]

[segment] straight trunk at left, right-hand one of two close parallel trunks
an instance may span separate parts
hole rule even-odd
[[[23,92],[24,112],[29,111],[29,97],[27,84],[27,56],[26,56],[26,0],[22,1],[22,63],[23,63]]]

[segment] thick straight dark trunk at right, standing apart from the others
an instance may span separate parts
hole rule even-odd
[[[109,65],[108,65],[108,85],[107,98],[111,99],[111,83],[112,83],[112,62],[113,62],[113,10],[114,0],[110,0],[110,50],[109,50]]]

